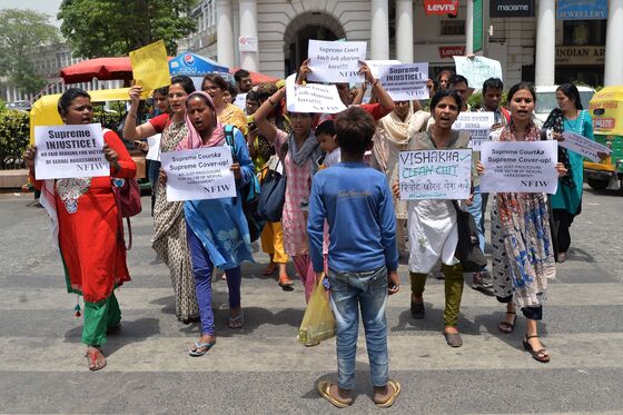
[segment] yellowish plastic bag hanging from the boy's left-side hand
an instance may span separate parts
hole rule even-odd
[[[298,328],[298,342],[314,344],[335,336],[335,317],[320,279],[314,286],[309,304]]]

